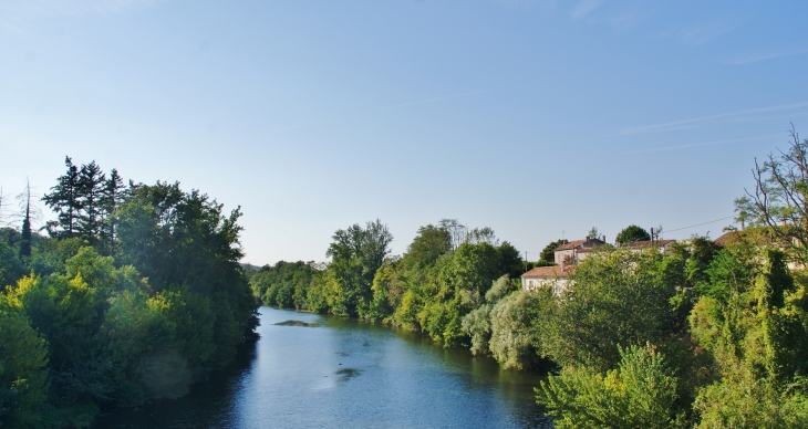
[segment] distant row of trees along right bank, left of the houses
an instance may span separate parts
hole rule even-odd
[[[267,305],[387,322],[454,346],[466,338],[463,316],[493,282],[525,270],[516,248],[494,231],[456,220],[418,229],[402,258],[390,258],[392,239],[379,220],[354,224],[334,233],[329,264],[281,261],[256,272],[250,285]]]

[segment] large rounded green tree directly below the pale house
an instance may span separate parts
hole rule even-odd
[[[588,257],[574,286],[558,300],[545,354],[563,366],[607,370],[620,360],[618,345],[659,344],[673,322],[675,287],[660,280],[656,252],[604,250]]]

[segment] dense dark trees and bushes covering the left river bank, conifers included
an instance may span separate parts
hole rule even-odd
[[[0,229],[2,427],[85,427],[102,406],[182,396],[255,336],[238,210],[66,167],[42,198],[49,237],[30,198],[22,228]]]

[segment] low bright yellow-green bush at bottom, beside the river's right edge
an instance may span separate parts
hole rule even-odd
[[[651,345],[618,347],[618,368],[603,376],[569,366],[536,389],[537,402],[564,428],[685,427],[676,407],[676,377]]]

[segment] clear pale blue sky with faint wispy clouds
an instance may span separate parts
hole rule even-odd
[[[244,211],[244,262],[380,219],[529,260],[629,224],[718,237],[808,137],[806,1],[0,0],[0,185],[95,160]],[[43,208],[46,218],[53,218]]]

